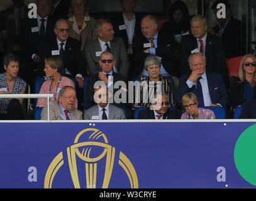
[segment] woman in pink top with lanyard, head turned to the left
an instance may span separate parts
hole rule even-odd
[[[50,78],[43,82],[39,94],[53,94],[53,98],[50,101],[56,102],[58,100],[58,92],[62,87],[68,85],[75,88],[74,82],[67,77],[60,75],[60,70],[63,68],[62,61],[59,57],[45,58],[45,72],[46,77]],[[43,107],[47,99],[38,99],[36,107]],[[75,102],[75,108],[77,108],[77,100]]]

